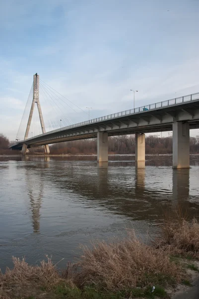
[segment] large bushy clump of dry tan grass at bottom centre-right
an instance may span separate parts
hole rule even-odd
[[[134,232],[122,241],[99,242],[93,248],[83,247],[80,268],[74,278],[79,287],[95,285],[106,290],[124,290],[180,282],[182,270],[170,261],[162,249],[137,240]]]

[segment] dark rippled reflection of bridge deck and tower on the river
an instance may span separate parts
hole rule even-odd
[[[198,207],[197,203],[188,200],[190,169],[170,169],[173,176],[172,187],[157,190],[155,185],[148,183],[148,171],[150,172],[151,167],[155,168],[154,166],[140,167],[139,165],[136,167],[132,161],[119,162],[119,164],[115,161],[116,163],[110,163],[108,167],[107,162],[102,162],[92,165],[92,173],[79,174],[75,170],[75,162],[70,163],[71,161],[69,161],[66,169],[68,161],[63,161],[66,163],[63,166],[62,163],[56,164],[54,159],[45,157],[41,168],[41,163],[39,166],[32,164],[32,157],[24,156],[22,159],[28,162],[26,186],[34,233],[40,232],[40,209],[46,179],[50,180],[62,193],[69,190],[73,194],[77,194],[77,198],[83,196],[84,202],[88,201],[89,204],[95,206],[97,204],[115,214],[130,217],[132,220],[147,220],[148,215],[160,219],[160,215],[164,212],[163,206],[169,208],[172,204],[180,203],[184,209]],[[41,159],[41,157],[34,158],[34,161],[41,161]],[[128,167],[123,167],[126,164]],[[49,167],[50,169],[48,169]],[[121,167],[121,171],[124,172],[118,171],[118,167]],[[44,169],[47,171],[43,171]],[[125,172],[127,173],[124,174]],[[63,180],[65,177],[66,180]],[[161,179],[162,182],[167,180],[164,174]],[[82,199],[79,201],[79,204],[82,204]]]

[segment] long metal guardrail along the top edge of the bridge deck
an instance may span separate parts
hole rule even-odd
[[[49,133],[52,134],[52,133],[56,133],[56,132],[62,132],[62,131],[68,130],[68,129],[72,129],[72,128],[76,128],[76,127],[80,127],[80,126],[84,126],[84,125],[88,125],[88,124],[94,124],[94,123],[98,123],[98,122],[101,122],[101,121],[111,120],[111,119],[115,119],[115,118],[118,118],[118,117],[121,117],[121,116],[133,115],[135,113],[146,112],[146,111],[153,110],[153,109],[156,109],[156,108],[162,108],[162,107],[167,107],[167,106],[170,106],[170,105],[175,105],[175,104],[180,104],[180,103],[184,103],[184,102],[194,101],[194,100],[197,100],[197,99],[199,99],[199,92],[195,93],[195,94],[175,98],[175,99],[170,99],[170,100],[166,100],[166,101],[162,101],[162,102],[158,102],[158,103],[154,103],[154,104],[141,106],[141,107],[138,107],[138,108],[135,108],[135,109],[125,110],[125,111],[122,111],[122,112],[113,113],[113,114],[109,114],[109,115],[106,115],[106,116],[98,117],[98,118],[95,118],[95,119],[92,119],[92,120],[89,120],[89,121],[85,121],[85,122],[81,122],[81,123],[78,123],[78,124],[70,125],[70,126],[67,126],[67,127],[61,128],[61,129],[56,129],[56,130],[38,135],[37,137],[45,136],[45,135],[48,135]],[[28,140],[34,139],[34,138],[35,137],[29,138]]]

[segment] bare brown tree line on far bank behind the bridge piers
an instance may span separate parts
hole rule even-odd
[[[16,154],[18,150],[10,150],[9,146],[14,142],[9,142],[8,138],[0,134],[0,154]],[[149,135],[145,137],[146,154],[169,154],[172,153],[172,137],[158,137],[157,135]],[[43,149],[31,149],[42,151]],[[135,136],[122,135],[109,137],[108,151],[111,154],[131,154],[135,152]],[[68,141],[50,146],[52,154],[96,154],[97,140],[76,140]],[[190,152],[199,153],[199,136],[190,137]]]

